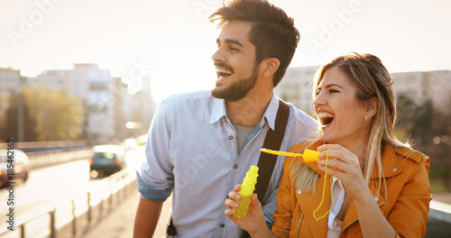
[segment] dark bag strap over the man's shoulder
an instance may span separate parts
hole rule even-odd
[[[266,133],[264,138],[263,148],[279,151],[281,150],[281,142],[285,129],[287,127],[288,117],[290,115],[290,105],[279,99],[279,110],[277,110],[276,122],[274,124],[274,130],[271,128]],[[257,184],[255,185],[254,193],[257,194],[259,201],[263,205],[263,198],[270,180],[272,177],[272,171],[277,161],[277,155],[269,153],[260,153],[260,159],[258,160],[258,177]],[[243,232],[241,238],[251,237],[249,233]]]

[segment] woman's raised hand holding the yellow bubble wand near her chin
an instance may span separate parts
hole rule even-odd
[[[365,199],[371,195],[357,156],[339,144],[324,144],[318,147],[319,159],[328,158],[327,173],[343,183],[347,195],[354,200]],[[326,170],[326,160],[318,160],[318,169]]]

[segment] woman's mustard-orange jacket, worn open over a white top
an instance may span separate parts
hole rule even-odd
[[[316,150],[319,144],[316,143],[309,149]],[[300,144],[291,147],[290,151],[297,152],[299,148]],[[325,201],[318,210],[317,217],[324,215],[328,210],[330,204],[329,175],[325,178],[324,172],[318,169],[317,162],[308,162],[307,165],[320,175],[316,187],[317,193],[313,195],[297,191],[292,184],[291,170],[295,164],[293,160],[302,159],[300,157],[287,158],[284,162],[272,232],[279,237],[326,237],[327,216],[317,222],[313,217],[313,212],[321,202],[325,180],[327,180]],[[377,196],[377,188],[373,184],[370,185],[370,189],[374,201],[381,208],[381,213],[396,231],[396,237],[424,237],[426,234],[429,201],[432,199],[428,179],[429,167],[428,156],[419,151],[409,148],[395,149],[390,145],[384,146],[382,168],[387,182],[387,193],[385,193],[383,184],[381,193]],[[384,197],[385,194],[387,197]],[[352,201],[345,214],[340,237],[362,236],[357,210]]]

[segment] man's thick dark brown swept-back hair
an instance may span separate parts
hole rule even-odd
[[[224,3],[207,20],[210,23],[219,21],[219,28],[227,21],[253,23],[248,37],[256,48],[256,63],[260,64],[268,58],[279,59],[281,65],[273,80],[274,87],[279,84],[299,42],[299,32],[293,18],[266,0],[233,0]]]

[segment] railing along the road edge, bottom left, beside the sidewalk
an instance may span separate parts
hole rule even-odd
[[[48,215],[50,219],[49,223],[49,229],[48,234],[46,234],[47,237],[50,238],[56,238],[58,237],[58,233],[70,233],[69,235],[61,235],[61,237],[76,237],[77,234],[81,233],[83,229],[86,231],[87,226],[92,225],[93,222],[93,209],[95,207],[98,207],[98,217],[102,217],[104,215],[104,211],[106,210],[106,201],[108,203],[108,208],[111,210],[114,208],[114,202],[113,200],[116,200],[116,203],[123,200],[126,195],[136,187],[136,178],[134,175],[131,175],[127,169],[123,169],[110,177],[103,178],[101,182],[107,182],[109,184],[109,188],[107,189],[108,193],[105,194],[103,191],[92,191],[88,190],[85,194],[87,196],[87,203],[85,206],[87,206],[87,210],[84,212],[79,212],[78,207],[75,203],[75,198],[66,200],[66,205],[69,204],[71,206],[71,219],[69,220],[69,223],[64,224],[59,228],[57,228],[57,211],[60,209],[60,206],[51,206],[47,207],[43,210],[41,210],[39,213],[29,215],[28,217],[25,217],[21,219],[21,221],[15,225],[14,230],[17,228],[20,228],[20,237],[32,237],[33,235],[28,235],[26,233],[27,224],[31,223],[33,220],[38,219],[39,217],[42,217],[44,215]],[[100,201],[93,205],[93,194],[94,193],[101,193]],[[103,194],[102,194],[103,193]],[[61,203],[60,203],[61,205]],[[81,217],[86,216],[85,224],[87,226],[80,227],[78,223],[81,223]],[[69,231],[68,231],[69,230]],[[0,237],[3,237],[4,234],[11,233],[11,231],[6,230],[3,233],[0,233]],[[35,234],[34,234],[35,235]]]

